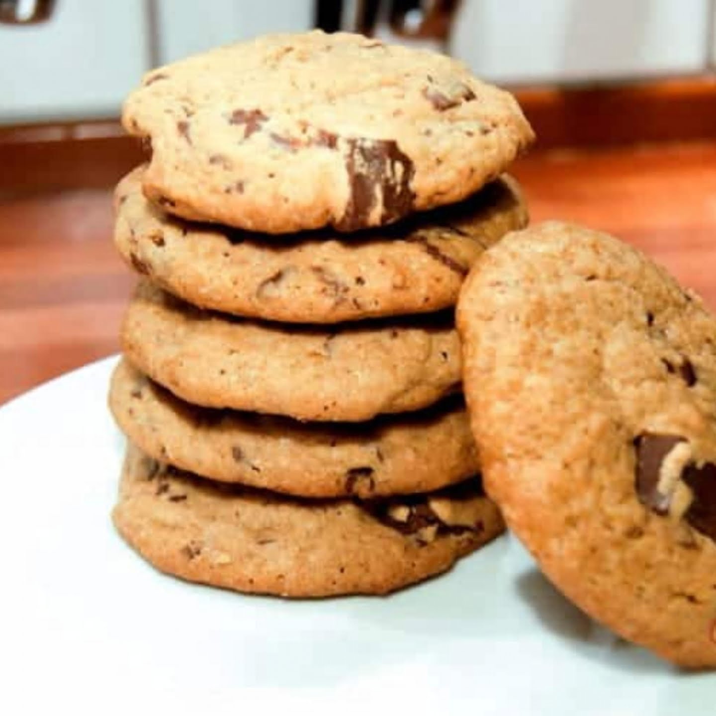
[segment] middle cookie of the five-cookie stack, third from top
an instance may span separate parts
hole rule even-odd
[[[324,327],[201,311],[141,281],[122,323],[127,358],[184,400],[298,420],[369,420],[460,387],[460,343],[443,312]]]

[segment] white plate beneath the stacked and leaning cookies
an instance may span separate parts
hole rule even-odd
[[[247,697],[312,712],[714,712],[716,676],[596,627],[513,538],[387,598],[283,601],[159,574],[110,522],[115,360],[0,409],[0,713],[238,714]]]

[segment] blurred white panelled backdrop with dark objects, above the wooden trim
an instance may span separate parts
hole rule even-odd
[[[437,47],[502,84],[695,76],[716,0],[0,0],[0,121],[113,117],[150,67],[316,25]]]

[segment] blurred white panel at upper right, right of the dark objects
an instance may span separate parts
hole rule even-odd
[[[451,51],[498,82],[702,72],[710,0],[463,0]]]

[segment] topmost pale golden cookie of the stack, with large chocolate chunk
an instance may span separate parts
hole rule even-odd
[[[356,231],[453,203],[533,132],[508,92],[449,57],[360,35],[275,34],[148,73],[122,122],[147,196],[251,231]]]

